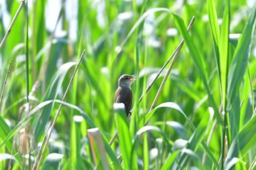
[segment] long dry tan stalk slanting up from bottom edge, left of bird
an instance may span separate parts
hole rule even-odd
[[[72,85],[72,82],[73,82],[73,80],[74,80],[75,74],[76,74],[76,72],[78,71],[78,67],[79,67],[79,65],[80,65],[80,62],[82,61],[82,58],[83,58],[83,55],[84,55],[85,52],[86,52],[86,50],[83,50],[83,53],[80,55],[78,64],[77,64],[77,66],[75,66],[75,71],[73,72],[72,77],[71,77],[71,79],[69,80],[69,85],[67,85],[67,89],[66,89],[66,91],[65,91],[65,93],[64,93],[64,96],[63,96],[63,98],[62,98],[62,101],[65,101],[65,100],[66,100],[67,93],[69,92],[69,89],[70,89],[70,87],[71,87],[71,85]],[[60,111],[61,111],[61,107],[62,107],[62,103],[59,105],[59,109],[58,109],[57,112],[56,112],[56,115],[55,115],[55,117],[54,117],[54,119],[53,119],[53,123],[50,125],[49,131],[47,131],[46,134],[45,134],[45,136],[46,136],[46,135],[48,135],[48,136],[47,136],[47,138],[46,138],[46,140],[45,140],[45,143],[42,143],[42,146],[40,147],[40,150],[42,150],[42,154],[41,154],[41,155],[39,155],[39,154],[37,155],[37,157],[39,156],[40,158],[39,158],[39,159],[37,158],[37,160],[34,162],[33,169],[36,169],[36,165],[37,165],[37,164],[38,164],[37,169],[39,169],[39,164],[40,164],[41,161],[42,161],[42,157],[43,157],[43,155],[44,155],[44,153],[45,153],[45,149],[46,149],[46,147],[47,147],[47,145],[48,145],[50,136],[51,136],[51,134],[53,133],[53,128],[54,128],[54,125],[55,125],[55,123],[56,123],[57,118],[59,117],[59,113],[60,113]],[[39,161],[38,161],[38,160],[39,160]],[[38,161],[38,163],[37,163],[37,161]]]

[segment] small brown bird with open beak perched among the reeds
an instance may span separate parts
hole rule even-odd
[[[115,93],[115,103],[123,103],[127,116],[130,114],[132,106],[132,89],[131,85],[136,79],[134,75],[122,75],[118,80],[118,88]]]

